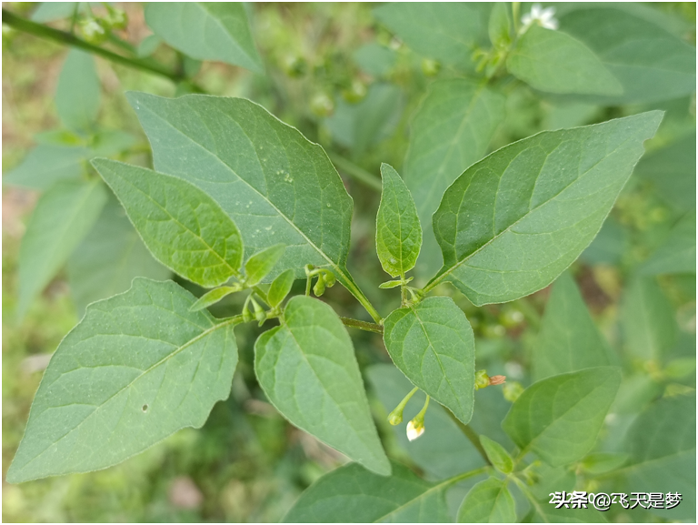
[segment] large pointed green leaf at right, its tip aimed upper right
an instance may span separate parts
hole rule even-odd
[[[482,306],[550,284],[598,233],[662,115],[544,131],[466,169],[434,214],[444,268],[425,289],[449,280]]]

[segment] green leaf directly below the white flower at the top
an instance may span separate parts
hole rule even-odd
[[[561,31],[533,24],[506,59],[509,73],[548,93],[620,95],[623,86],[598,56]]]

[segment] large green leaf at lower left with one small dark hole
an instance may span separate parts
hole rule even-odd
[[[7,480],[105,469],[201,427],[230,393],[237,348],[233,326],[190,312],[194,300],[135,278],[87,307],[51,358]]]

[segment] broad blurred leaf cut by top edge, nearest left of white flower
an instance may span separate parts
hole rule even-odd
[[[374,16],[420,55],[465,66],[483,26],[479,11],[464,2],[391,2]]]

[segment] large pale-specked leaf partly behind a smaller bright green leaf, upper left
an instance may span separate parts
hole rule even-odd
[[[131,93],[129,100],[155,169],[214,197],[240,228],[247,256],[286,246],[269,281],[288,268],[304,277],[302,268],[313,264],[332,268],[363,297],[345,266],[352,198],[322,147],[243,98]]]

